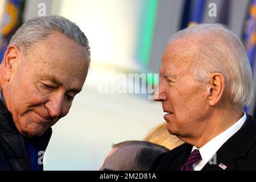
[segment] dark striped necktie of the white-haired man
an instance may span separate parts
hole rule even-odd
[[[187,161],[180,167],[180,171],[193,171],[193,164],[201,160],[202,157],[198,149],[193,150],[188,156]]]

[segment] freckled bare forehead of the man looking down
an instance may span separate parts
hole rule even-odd
[[[84,78],[89,67],[86,48],[64,35],[51,36],[32,47],[27,64],[39,72]]]

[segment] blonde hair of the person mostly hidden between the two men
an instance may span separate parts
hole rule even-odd
[[[144,140],[147,142],[159,144],[161,146],[169,148],[170,150],[184,143],[175,135],[171,135],[168,132],[166,122],[160,123],[153,129],[151,129],[147,136],[144,138]]]

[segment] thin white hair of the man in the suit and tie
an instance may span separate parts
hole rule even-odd
[[[222,24],[198,24],[177,32],[169,43],[196,37],[199,59],[193,73],[197,80],[209,81],[212,73],[222,73],[229,99],[248,106],[253,97],[252,74],[245,47],[241,40]]]

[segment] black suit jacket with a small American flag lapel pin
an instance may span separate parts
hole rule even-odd
[[[192,145],[184,143],[173,150],[160,155],[152,164],[151,171],[179,170],[192,150]],[[256,122],[246,115],[246,121],[232,137],[216,152],[216,164],[209,162],[201,171],[223,171],[218,165],[227,166],[225,171],[256,170]],[[212,160],[213,161],[213,160]]]

